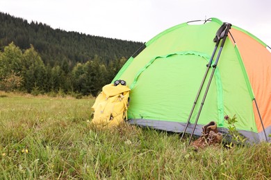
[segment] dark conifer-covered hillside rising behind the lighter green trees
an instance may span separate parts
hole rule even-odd
[[[65,30],[53,29],[47,24],[13,17],[0,12],[0,48],[14,42],[22,50],[30,44],[40,53],[44,64],[59,64],[67,60],[71,66],[87,62],[98,55],[103,62],[130,57],[141,42],[97,37]]]

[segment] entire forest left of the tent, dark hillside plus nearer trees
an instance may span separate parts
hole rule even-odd
[[[53,29],[0,12],[0,90],[97,96],[142,44]]]

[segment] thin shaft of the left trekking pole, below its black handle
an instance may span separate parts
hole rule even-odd
[[[209,71],[209,69],[210,69],[210,67],[211,67],[211,64],[212,64],[212,62],[213,62],[213,57],[215,56],[215,52],[217,51],[217,46],[218,46],[219,44],[220,44],[220,39],[219,39],[219,40],[216,42],[216,44],[215,44],[215,48],[214,48],[214,50],[213,50],[213,54],[212,54],[212,56],[211,56],[211,58],[210,58],[209,63],[206,64],[207,69],[206,69],[206,71],[205,71],[204,78],[202,79],[202,83],[201,83],[200,86],[199,86],[199,91],[197,91],[197,96],[196,96],[196,98],[195,98],[194,104],[193,104],[192,109],[191,109],[191,111],[190,111],[190,114],[189,114],[189,116],[188,116],[188,120],[187,120],[187,122],[186,122],[186,127],[184,127],[184,129],[183,129],[183,134],[181,135],[181,140],[183,139],[183,135],[186,133],[186,129],[187,129],[187,127],[188,127],[188,124],[190,123],[190,118],[191,118],[191,116],[192,116],[192,114],[193,114],[193,111],[194,111],[194,109],[195,109],[195,106],[196,106],[196,104],[197,104],[197,100],[198,100],[198,98],[199,98],[199,94],[200,94],[200,92],[202,91],[202,87],[203,87],[204,82],[205,82],[205,80],[206,80],[206,76],[207,76],[208,71]]]

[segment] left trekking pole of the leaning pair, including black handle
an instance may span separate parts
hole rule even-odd
[[[222,26],[220,26],[220,28],[217,30],[217,33],[216,33],[216,35],[215,35],[215,39],[213,40],[214,42],[216,42],[215,48],[214,48],[214,50],[213,50],[213,54],[212,54],[212,56],[211,56],[211,58],[210,58],[210,61],[209,61],[208,64],[206,65],[206,66],[207,66],[207,69],[206,69],[206,71],[205,71],[205,73],[204,73],[204,78],[202,79],[202,83],[201,83],[200,86],[199,86],[199,91],[197,91],[197,96],[196,96],[196,98],[195,98],[194,104],[193,104],[192,109],[191,109],[191,111],[190,111],[190,114],[189,114],[189,116],[188,116],[188,120],[187,120],[187,122],[186,122],[186,127],[184,127],[184,129],[183,129],[183,134],[181,135],[181,140],[183,139],[183,136],[184,136],[184,134],[186,133],[186,129],[187,129],[187,127],[188,127],[188,124],[190,123],[190,118],[191,118],[192,113],[193,113],[193,111],[194,111],[194,109],[195,109],[195,106],[196,106],[196,104],[197,104],[197,100],[198,100],[198,98],[199,98],[199,94],[200,94],[201,91],[202,91],[202,87],[203,87],[204,82],[205,82],[205,80],[206,80],[206,76],[207,76],[208,71],[209,71],[209,69],[210,69],[210,67],[211,67],[211,64],[212,64],[212,62],[213,62],[213,57],[215,56],[215,53],[216,53],[216,51],[217,51],[218,45],[220,44],[220,39],[221,39],[221,38],[220,38],[220,35],[221,35],[222,31],[225,29],[225,27],[226,27],[226,25],[224,25],[224,24],[223,24]]]

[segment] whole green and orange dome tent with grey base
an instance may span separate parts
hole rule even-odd
[[[215,48],[213,39],[222,24],[215,18],[202,24],[179,24],[156,35],[129,58],[113,80],[126,80],[131,89],[129,123],[183,132]],[[270,141],[268,48],[254,35],[231,26],[195,134],[200,135],[202,126],[211,120],[220,132],[227,132],[224,116],[236,115],[236,128],[250,141]],[[213,62],[216,56],[217,53]],[[192,132],[210,71],[190,118],[188,133]]]

